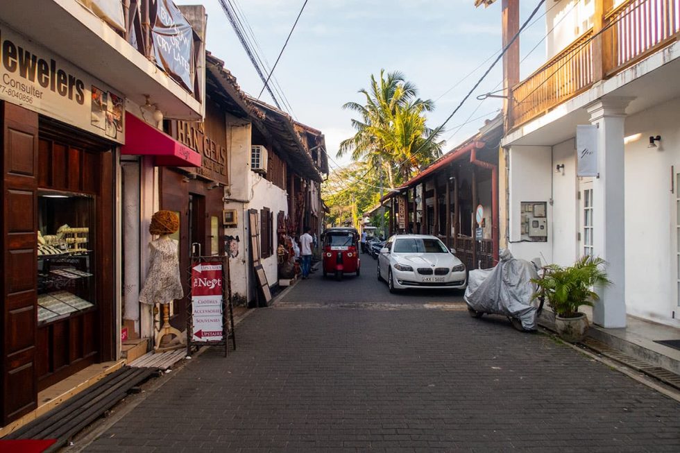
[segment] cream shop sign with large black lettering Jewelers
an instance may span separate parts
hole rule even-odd
[[[0,23],[0,99],[124,144],[125,99]]]

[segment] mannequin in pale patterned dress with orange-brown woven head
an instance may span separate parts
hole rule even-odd
[[[178,228],[179,219],[171,211],[158,211],[153,214],[148,228],[151,234],[158,234],[159,237],[148,244],[151,253],[144,287],[139,293],[139,302],[147,305],[160,305],[162,325],[155,336],[156,350],[160,346],[161,339],[166,335],[182,339],[180,331],[170,325],[169,307],[173,300],[184,297],[180,279],[178,243],[170,238],[170,234],[176,232]]]

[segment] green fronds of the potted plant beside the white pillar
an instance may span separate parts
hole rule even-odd
[[[605,265],[604,259],[590,255],[581,257],[569,267],[551,264],[546,267],[543,278],[532,280],[538,285],[534,298],[545,296],[555,314],[573,318],[578,315],[581,305],[592,307],[599,299],[593,291],[594,286],[611,284],[604,271]]]

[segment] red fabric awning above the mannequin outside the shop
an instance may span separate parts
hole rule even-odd
[[[153,155],[157,166],[201,166],[200,154],[129,112],[121,154]]]

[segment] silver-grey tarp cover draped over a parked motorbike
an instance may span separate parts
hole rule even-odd
[[[518,318],[525,330],[536,330],[536,307],[531,305],[536,284],[531,279],[537,277],[534,263],[501,250],[494,268],[470,271],[465,301],[476,311]]]

